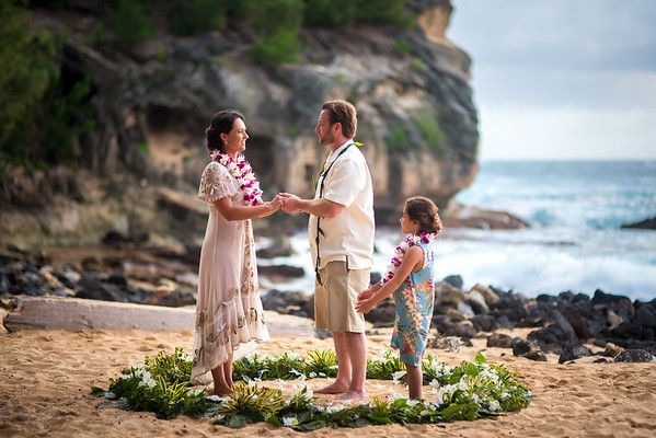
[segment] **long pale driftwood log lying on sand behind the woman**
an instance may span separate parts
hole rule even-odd
[[[194,328],[194,308],[165,308],[59,297],[16,297],[4,316],[9,332],[53,330],[182,330]],[[313,336],[312,320],[265,311],[269,334]]]

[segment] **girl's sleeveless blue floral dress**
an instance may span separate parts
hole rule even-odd
[[[401,361],[414,366],[422,364],[435,300],[433,242],[416,244],[424,250],[424,266],[394,291],[396,321],[391,341],[392,347],[399,348]]]

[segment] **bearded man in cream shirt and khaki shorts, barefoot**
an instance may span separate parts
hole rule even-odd
[[[323,104],[314,132],[329,150],[313,199],[281,194],[287,212],[308,212],[310,249],[317,270],[314,321],[333,333],[337,355],[335,381],[318,391],[366,395],[365,318],[355,310],[357,295],[369,286],[373,252],[373,189],[365,157],[353,138],[355,107],[346,101]]]

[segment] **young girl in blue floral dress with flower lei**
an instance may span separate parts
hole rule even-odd
[[[433,241],[441,230],[437,206],[422,196],[405,201],[401,230],[408,235],[396,246],[392,264],[380,283],[358,295],[356,310],[369,312],[393,293],[396,320],[391,345],[405,364],[410,397],[422,397],[422,357],[433,318]]]

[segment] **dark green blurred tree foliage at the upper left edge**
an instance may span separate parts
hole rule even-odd
[[[7,165],[44,168],[70,158],[93,126],[84,78],[64,80],[64,38],[28,25],[30,14],[0,1],[0,178]]]

